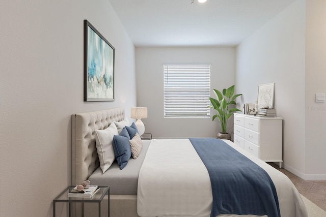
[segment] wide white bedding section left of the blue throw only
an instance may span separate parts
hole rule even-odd
[[[208,171],[189,140],[152,139],[139,174],[138,214],[207,216],[211,203]]]

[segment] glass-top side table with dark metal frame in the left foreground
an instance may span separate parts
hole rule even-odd
[[[71,216],[71,203],[98,203],[98,216],[101,216],[101,202],[107,194],[107,216],[110,217],[110,187],[99,186],[100,189],[92,198],[88,197],[68,197],[68,193],[76,187],[70,185],[53,199],[53,217],[56,217],[56,203],[69,203],[69,216]]]

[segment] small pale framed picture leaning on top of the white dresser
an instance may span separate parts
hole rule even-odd
[[[261,84],[258,86],[258,108],[274,108],[275,83]]]

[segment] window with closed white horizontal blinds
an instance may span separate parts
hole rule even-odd
[[[210,65],[164,65],[164,117],[209,117]]]

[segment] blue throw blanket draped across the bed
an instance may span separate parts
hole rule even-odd
[[[211,217],[219,214],[281,216],[274,183],[265,170],[220,139],[189,140],[210,176]]]

